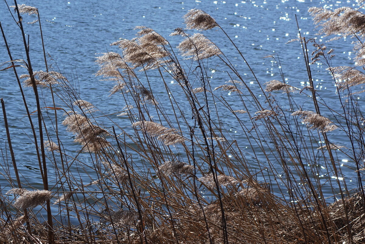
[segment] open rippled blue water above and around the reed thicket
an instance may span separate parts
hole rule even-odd
[[[122,3],[123,2],[123,3]],[[75,84],[79,85],[80,97],[95,104],[105,114],[121,111],[125,104],[119,99],[108,98],[108,91],[112,88],[111,82],[99,81],[95,77],[98,66],[95,57],[102,52],[118,52],[117,47],[109,46],[110,43],[119,38],[131,39],[136,31],[135,26],[147,26],[168,37],[177,27],[184,27],[181,16],[189,9],[200,8],[212,15],[216,21],[227,31],[241,52],[258,75],[261,83],[277,79],[280,80],[276,64],[270,62],[268,55],[277,54],[281,60],[281,70],[286,81],[295,87],[307,85],[306,69],[303,62],[303,54],[299,42],[285,44],[290,39],[297,38],[297,15],[301,34],[308,38],[314,37],[316,31],[311,17],[307,13],[308,7],[330,5],[333,8],[342,5],[351,5],[352,1],[308,1],[308,0],[288,0],[288,1],[156,1],[152,3],[147,0],[140,1],[57,1],[49,0],[40,3],[39,1],[19,2],[19,4],[36,6],[39,8],[41,16],[43,35],[45,39],[45,49],[51,55],[49,64],[53,68],[61,70]],[[0,4],[0,20],[3,25],[8,43],[11,46],[14,58],[22,59],[24,53],[18,50],[23,49],[20,41],[21,35],[16,23],[11,17],[6,5]],[[31,22],[33,16],[24,16],[24,20]],[[30,40],[30,53],[33,60],[34,70],[45,70],[43,62],[42,46],[37,27],[38,23],[25,25],[26,34]],[[193,33],[193,31],[191,32]],[[237,60],[237,53],[233,52],[230,42],[222,38],[219,31],[204,32],[207,37],[214,41],[230,60]],[[319,37],[320,38],[320,37]],[[172,45],[176,46],[181,40],[176,37],[169,38]],[[333,47],[337,57],[333,66],[353,65],[351,58],[354,56],[350,40],[342,39],[337,42],[327,44],[328,48]],[[236,56],[235,56],[236,55]],[[9,57],[3,41],[0,41],[0,61],[8,61]],[[256,82],[249,75],[249,70],[242,61],[235,62],[237,69],[241,73],[247,73],[248,83],[253,89],[257,88]],[[213,67],[213,66],[212,66]],[[316,69],[318,68],[318,69]],[[220,74],[226,68],[221,66],[213,67],[214,77],[212,87],[222,85],[219,80]],[[25,70],[19,73],[25,73]],[[213,74],[213,73],[212,73]],[[331,77],[323,72],[323,67],[314,67],[315,86],[319,92],[326,96],[328,106],[335,106],[337,95]],[[158,85],[158,80],[151,80],[152,86]],[[174,84],[170,84],[174,89]],[[35,102],[32,99],[30,88],[24,89],[28,98],[30,111],[35,111]],[[158,93],[158,91],[157,91]],[[42,94],[46,99],[43,106],[49,106],[51,100],[47,94]],[[49,95],[49,94],[48,94]],[[229,101],[234,101],[233,94],[222,92],[222,95]],[[28,128],[28,119],[23,108],[20,90],[12,70],[0,73],[0,96],[4,99],[12,143],[15,150],[15,157],[18,162],[18,169],[22,178],[27,180],[29,185],[35,188],[42,188],[37,157],[34,153],[31,131]],[[230,100],[231,99],[231,100]],[[233,100],[232,100],[233,99]],[[362,102],[359,95],[358,102]],[[305,106],[307,98],[298,100],[298,104]],[[42,106],[42,105],[41,105]],[[52,115],[50,115],[52,116]],[[33,115],[36,120],[36,115]],[[117,118],[116,118],[117,119]],[[231,127],[226,127],[234,139],[238,141],[242,138],[242,131],[239,127],[230,123],[230,118],[222,118],[223,122]],[[61,121],[60,121],[61,122]],[[6,146],[6,134],[4,124],[1,122],[0,148],[4,157]],[[73,146],[72,134],[65,131],[61,126],[60,136],[65,138],[65,147]],[[343,134],[331,136],[334,144],[342,144]],[[244,141],[241,141],[245,144]],[[245,145],[243,145],[245,146]],[[247,145],[248,146],[248,145]],[[349,146],[349,145],[347,145]],[[264,159],[264,155],[259,155]],[[9,159],[7,159],[10,161]],[[88,158],[85,156],[85,160]],[[6,160],[5,160],[6,161]],[[343,156],[342,163],[346,166],[354,167],[354,162],[349,157]],[[52,169],[50,169],[52,170]],[[3,171],[2,171],[3,172]],[[356,174],[352,169],[343,167],[344,179],[349,188],[356,188]],[[325,176],[326,180],[334,180],[333,175]],[[353,179],[355,178],[355,179]],[[0,188],[7,191],[11,187],[9,179],[0,177]],[[328,191],[328,195],[332,192]]]

